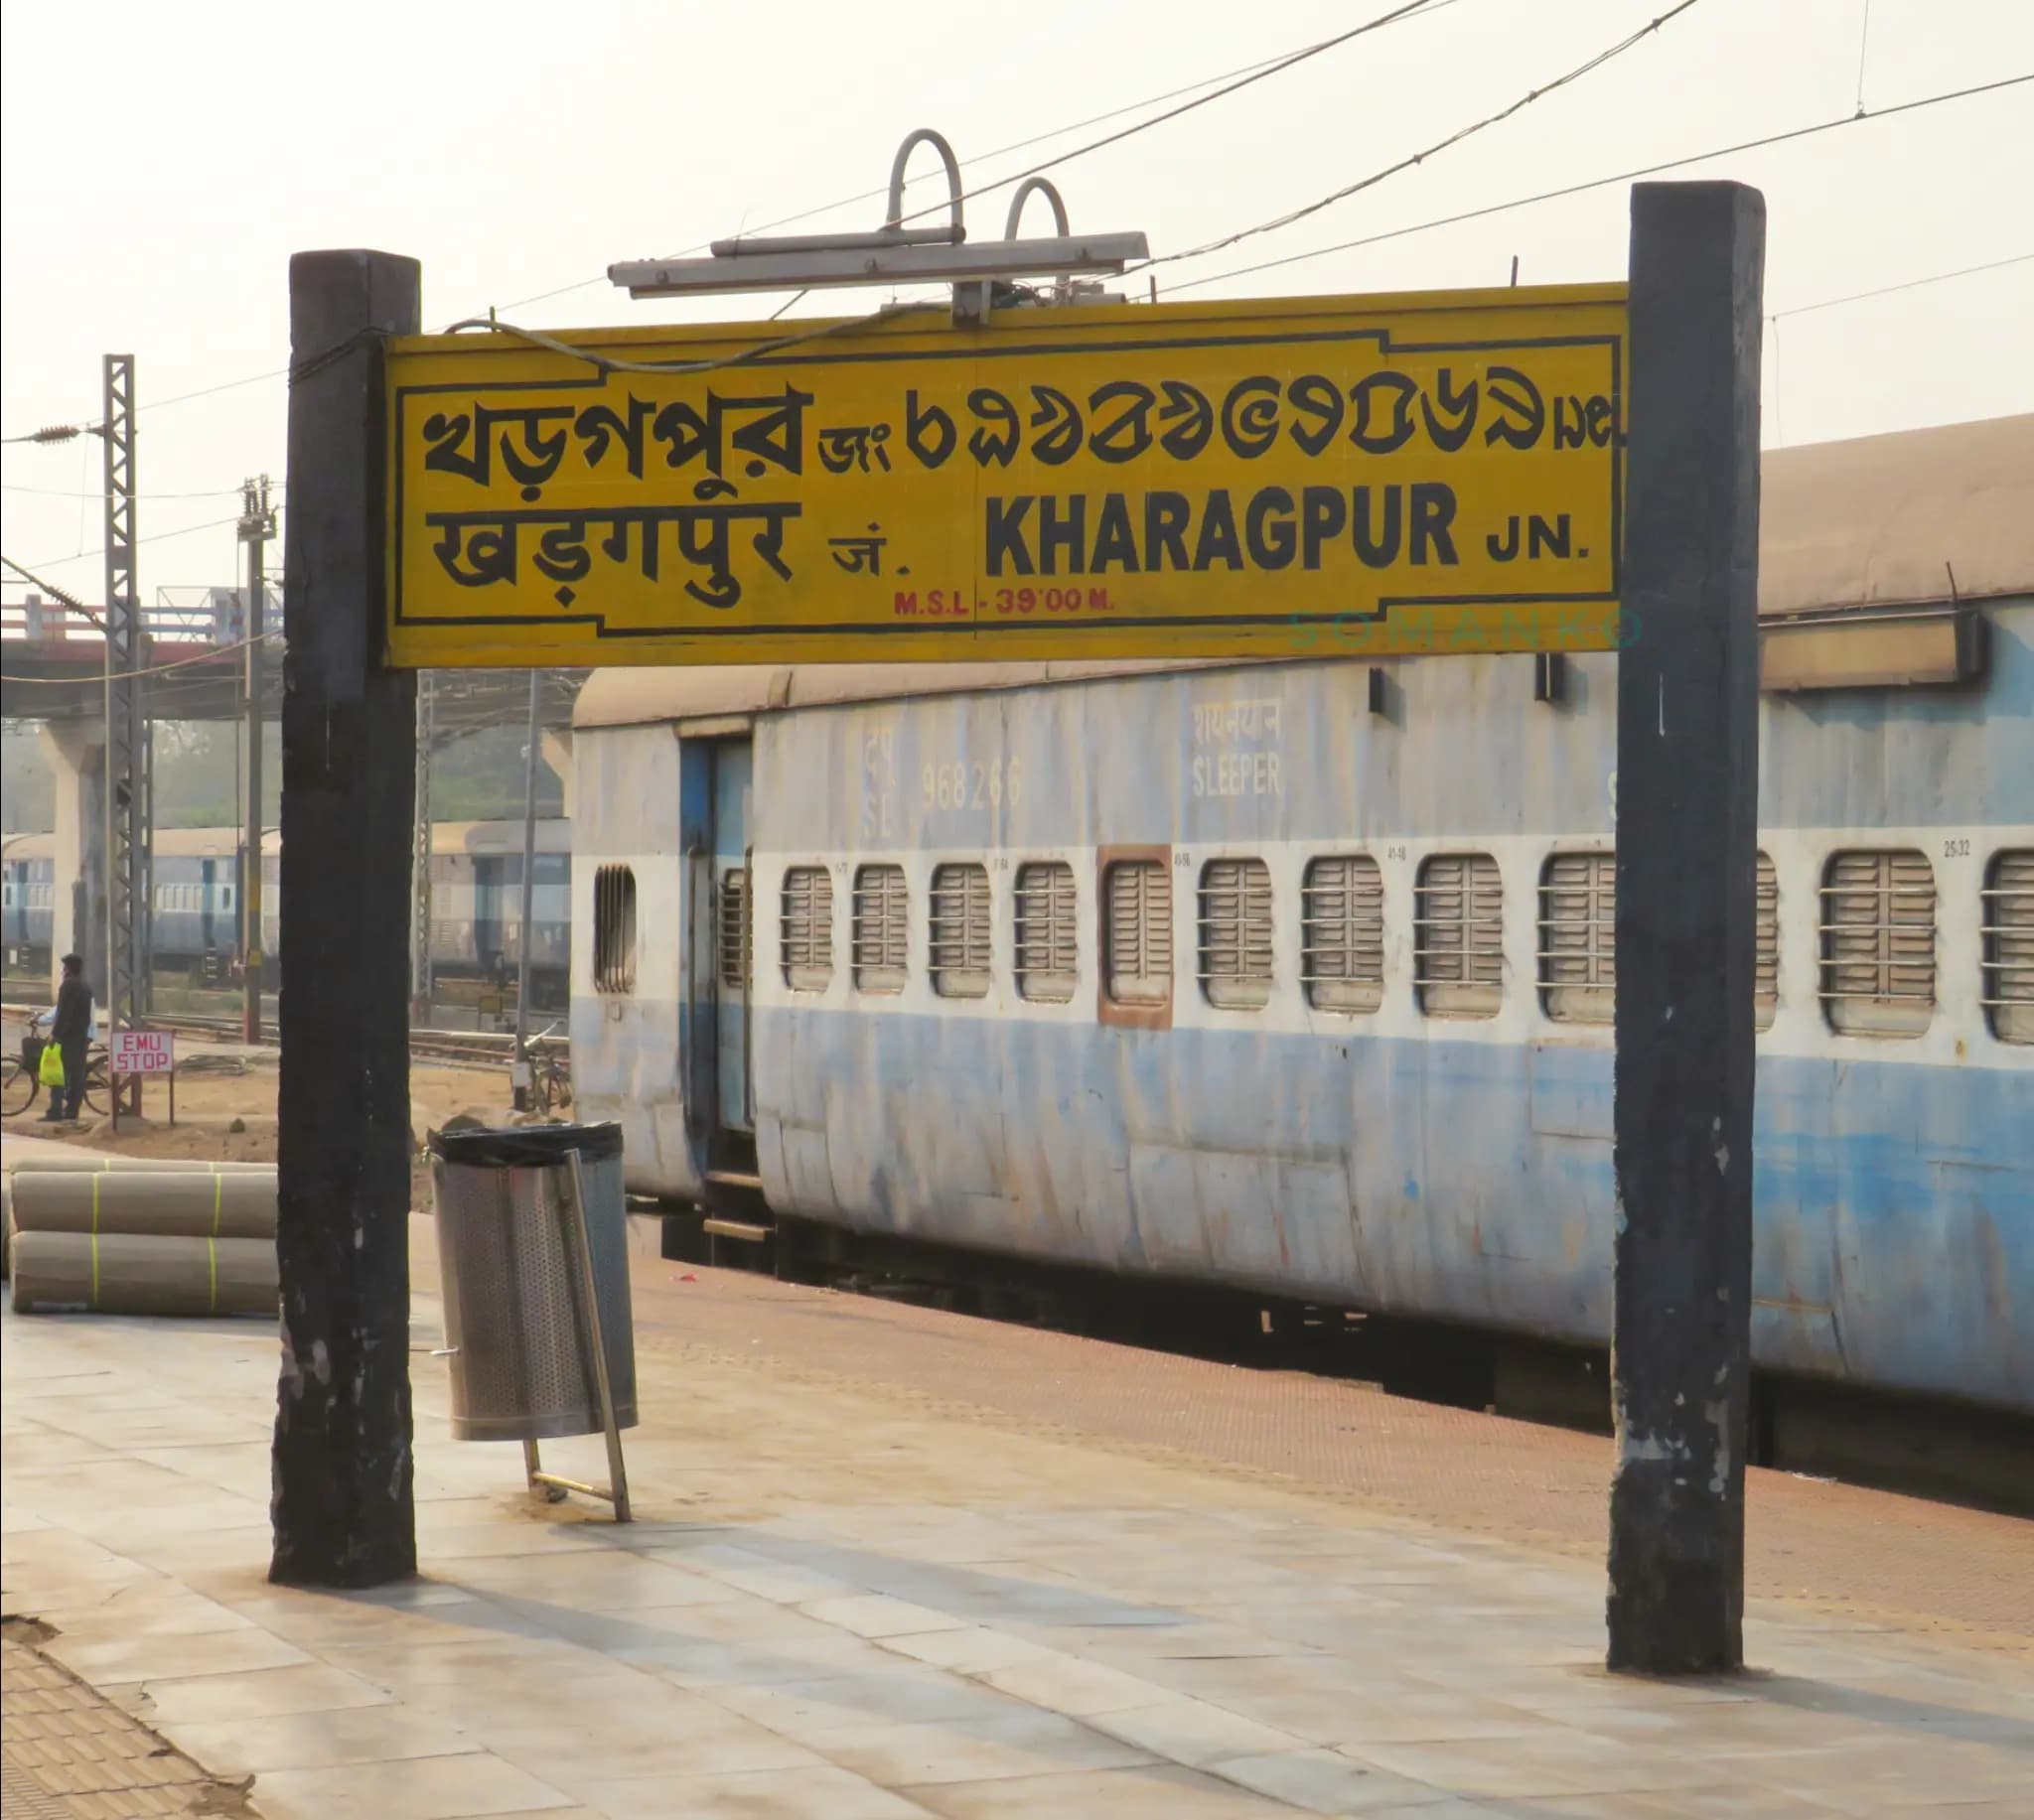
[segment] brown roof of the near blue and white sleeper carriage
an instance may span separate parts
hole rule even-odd
[[[2034,413],[1766,449],[1759,466],[1763,618],[2034,594]],[[712,720],[885,695],[1023,689],[1235,663],[1239,659],[598,669],[580,691],[574,726]]]

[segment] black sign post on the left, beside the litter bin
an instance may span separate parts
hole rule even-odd
[[[417,1572],[409,1397],[409,864],[417,685],[384,669],[380,340],[415,333],[421,270],[289,262],[283,659],[283,1377],[275,1556],[289,1586]],[[258,830],[250,832],[258,852]]]

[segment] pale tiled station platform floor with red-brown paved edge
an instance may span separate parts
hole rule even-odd
[[[0,1318],[6,1611],[266,1820],[2034,1812],[2034,1525],[1753,1472],[1753,1670],[1613,1678],[1607,1442],[647,1249],[616,1525],[415,1230],[407,1586],[266,1584],[264,1324]]]

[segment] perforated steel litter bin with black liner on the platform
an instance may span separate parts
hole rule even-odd
[[[572,1251],[567,1155],[586,1184],[586,1234],[614,1425],[635,1428],[635,1326],[618,1125],[433,1131],[431,1198],[452,1352],[452,1434],[535,1442],[600,1432],[592,1332]]]

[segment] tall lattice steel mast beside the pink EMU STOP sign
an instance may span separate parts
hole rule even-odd
[[[140,677],[146,639],[134,586],[134,356],[104,366],[106,443],[106,980],[108,1033],[146,1011],[148,738]],[[114,1118],[140,1110],[140,1076],[114,1078]]]

